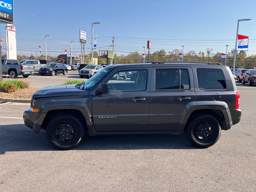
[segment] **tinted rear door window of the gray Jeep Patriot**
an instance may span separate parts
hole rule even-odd
[[[188,70],[157,69],[155,89],[190,89]]]

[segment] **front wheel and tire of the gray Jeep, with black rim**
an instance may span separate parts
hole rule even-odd
[[[65,136],[63,137],[62,134]],[[80,120],[75,116],[59,114],[48,122],[46,137],[53,147],[61,150],[70,150],[83,140],[84,128]]]

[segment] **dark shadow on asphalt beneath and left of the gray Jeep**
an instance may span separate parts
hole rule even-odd
[[[45,130],[34,133],[24,124],[0,126],[0,154],[13,151],[53,151]],[[195,149],[184,134],[85,136],[75,150]]]

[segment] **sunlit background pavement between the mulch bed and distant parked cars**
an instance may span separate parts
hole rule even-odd
[[[4,79],[9,78],[8,75],[4,77],[5,77]],[[76,71],[70,70],[68,71],[68,74],[65,76],[63,74],[56,74],[55,76],[50,76],[50,75],[41,76],[40,74],[35,73],[33,75],[30,75],[28,78],[23,78],[22,76],[18,76],[18,78],[21,80],[30,82],[30,86],[32,87],[47,87],[47,86],[60,85],[67,80],[74,80],[74,79],[81,80],[78,70]],[[84,80],[86,79],[84,78]]]

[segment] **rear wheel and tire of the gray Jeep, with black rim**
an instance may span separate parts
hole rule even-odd
[[[199,115],[188,124],[186,136],[192,145],[208,148],[218,141],[220,132],[220,123],[216,118],[211,115]]]

